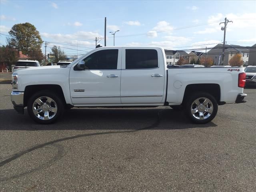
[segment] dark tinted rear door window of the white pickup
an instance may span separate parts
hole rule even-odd
[[[154,49],[126,49],[126,69],[158,68],[157,51]]]

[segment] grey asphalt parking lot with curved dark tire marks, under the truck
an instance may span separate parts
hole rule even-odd
[[[0,191],[256,191],[256,89],[208,124],[158,108],[73,108],[52,125],[19,115],[0,84]]]

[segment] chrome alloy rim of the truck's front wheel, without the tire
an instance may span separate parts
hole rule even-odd
[[[34,101],[32,110],[37,118],[41,120],[49,120],[56,115],[58,108],[56,102],[52,98],[42,96]]]

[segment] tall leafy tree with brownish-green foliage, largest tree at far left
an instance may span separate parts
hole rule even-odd
[[[9,46],[22,51],[23,54],[28,55],[31,59],[41,62],[43,58],[41,50],[43,41],[34,25],[30,23],[15,24],[9,34],[13,37],[9,39]]]

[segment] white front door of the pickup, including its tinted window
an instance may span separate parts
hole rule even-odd
[[[84,70],[72,66],[70,94],[75,106],[121,103],[121,55],[120,48],[95,50],[82,59]]]

